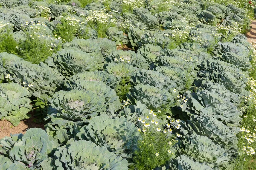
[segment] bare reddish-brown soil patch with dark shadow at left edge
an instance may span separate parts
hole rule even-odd
[[[20,124],[17,126],[13,126],[7,120],[0,120],[0,139],[5,136],[11,136],[11,134],[24,134],[26,130],[33,127],[44,129],[44,123],[36,122],[35,120],[35,117],[32,115],[29,119],[20,121]]]

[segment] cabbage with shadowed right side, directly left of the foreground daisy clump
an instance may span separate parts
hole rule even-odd
[[[137,149],[140,133],[133,122],[126,118],[111,119],[107,115],[90,119],[77,134],[81,140],[90,140],[100,146],[105,146],[116,154],[130,155]],[[125,156],[126,157],[126,156]]]

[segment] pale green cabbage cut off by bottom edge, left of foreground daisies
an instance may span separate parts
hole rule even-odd
[[[128,162],[90,141],[74,141],[58,147],[44,166],[56,170],[128,170]]]

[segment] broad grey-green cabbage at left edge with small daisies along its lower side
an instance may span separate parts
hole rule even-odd
[[[58,91],[65,79],[42,62],[39,65],[32,64],[14,54],[0,53],[0,65],[4,70],[2,74],[10,74],[6,81],[28,88],[30,94],[38,98]]]

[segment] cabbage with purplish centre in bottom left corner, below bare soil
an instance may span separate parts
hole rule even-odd
[[[15,163],[16,166],[22,166],[21,170],[39,169],[41,163],[48,159],[47,155],[53,147],[57,146],[40,128],[29,129],[24,135],[5,137],[0,140],[0,144],[2,155]]]

